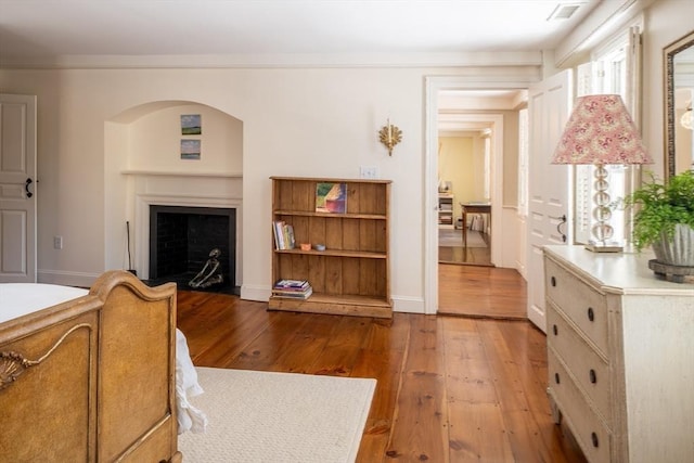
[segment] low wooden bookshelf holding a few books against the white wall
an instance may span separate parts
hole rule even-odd
[[[271,177],[272,222],[291,224],[296,248],[278,249],[272,241],[272,283],[307,280],[307,299],[270,297],[270,310],[393,317],[390,299],[390,180]],[[345,183],[342,213],[316,211],[319,183]],[[300,243],[325,250],[301,250]]]

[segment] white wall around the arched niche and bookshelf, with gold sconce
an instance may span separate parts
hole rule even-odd
[[[512,75],[514,69],[493,72]],[[244,297],[262,299],[270,290],[269,177],[355,178],[365,165],[394,181],[396,308],[400,301],[420,310],[424,77],[447,73],[452,74],[408,68],[1,70],[3,92],[38,95],[40,279],[89,284],[106,266],[106,248],[123,248],[124,234],[112,233],[120,223],[108,218],[127,213],[107,209],[112,192],[105,191],[104,179],[119,176],[127,164],[105,158],[106,134],[120,131],[118,116],[130,108],[185,101],[243,124]],[[403,131],[393,157],[376,134],[388,117]],[[52,248],[55,234],[64,236],[61,250]]]

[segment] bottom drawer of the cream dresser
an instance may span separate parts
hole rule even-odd
[[[550,398],[554,400],[563,420],[591,463],[609,462],[612,435],[600,416],[589,407],[586,398],[550,349],[548,351]]]

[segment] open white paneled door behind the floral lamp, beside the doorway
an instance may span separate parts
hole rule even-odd
[[[551,164],[571,102],[570,70],[531,87],[528,94],[528,319],[543,332],[547,317],[542,246],[571,240],[569,168]]]

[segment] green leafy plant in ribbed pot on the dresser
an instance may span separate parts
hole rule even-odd
[[[656,261],[694,267],[694,170],[659,182],[653,172],[626,200],[635,206],[633,242],[637,250],[652,246]]]

